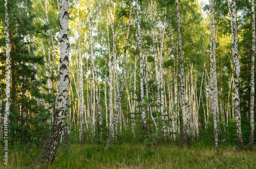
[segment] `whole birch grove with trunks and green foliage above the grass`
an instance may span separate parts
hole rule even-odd
[[[253,151],[254,3],[3,1],[0,135],[36,165],[59,144]]]

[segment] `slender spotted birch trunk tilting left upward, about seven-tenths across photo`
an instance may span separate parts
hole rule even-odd
[[[179,52],[180,52],[180,76],[181,76],[181,101],[182,101],[182,132],[181,132],[181,140],[180,140],[180,148],[184,148],[185,146],[185,137],[186,137],[186,125],[189,125],[189,122],[186,122],[186,114],[189,117],[189,105],[186,99],[186,89],[185,89],[185,77],[184,77],[184,61],[183,61],[183,53],[182,53],[182,40],[181,40],[181,32],[180,32],[180,9],[178,0],[175,0],[176,4],[176,12],[177,12],[177,22],[178,22],[178,41],[179,41]],[[185,111],[186,108],[186,111]],[[189,118],[187,118],[189,120]],[[187,123],[187,124],[186,124]],[[189,135],[187,135],[187,147],[190,148],[190,139]]]

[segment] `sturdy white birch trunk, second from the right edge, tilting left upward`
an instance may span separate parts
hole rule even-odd
[[[242,150],[244,147],[242,131],[241,131],[241,110],[240,110],[240,99],[239,99],[239,76],[241,71],[241,65],[238,58],[238,32],[237,32],[237,9],[236,1],[231,2],[231,31],[232,36],[232,54],[234,64],[234,111],[236,115],[236,126],[237,126],[237,150]]]

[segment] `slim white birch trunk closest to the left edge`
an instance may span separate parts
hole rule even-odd
[[[7,0],[5,0],[5,45],[6,45],[6,90],[5,90],[5,114],[3,131],[4,138],[8,138],[8,124],[10,116],[10,94],[11,94],[11,65],[10,65],[10,35]]]

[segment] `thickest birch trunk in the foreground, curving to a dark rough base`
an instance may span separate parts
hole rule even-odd
[[[60,10],[60,67],[59,67],[59,95],[53,126],[47,138],[46,145],[35,161],[36,165],[51,164],[56,156],[58,144],[65,123],[66,109],[69,99],[69,2],[61,0]]]

